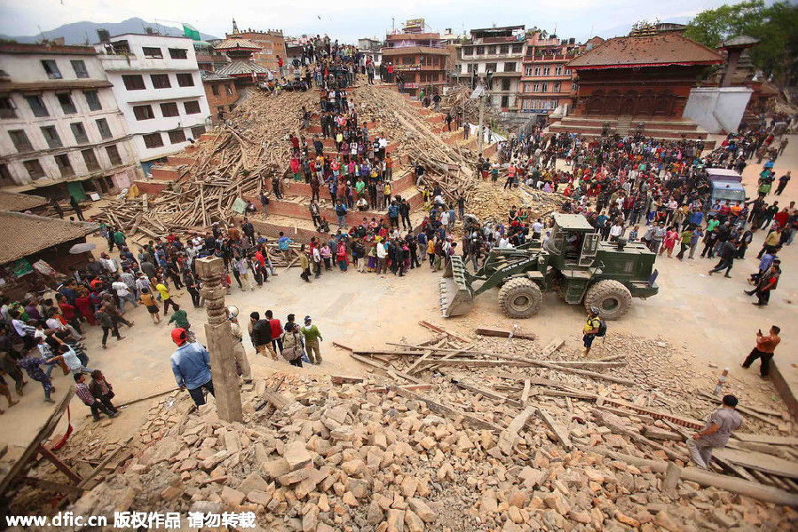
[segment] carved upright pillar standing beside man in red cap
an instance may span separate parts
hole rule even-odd
[[[205,338],[208,341],[217,413],[225,421],[243,421],[241,389],[233,356],[233,335],[225,314],[227,290],[222,286],[225,262],[218,257],[198,258],[196,267],[202,280],[200,293],[205,298],[205,309],[208,311]]]

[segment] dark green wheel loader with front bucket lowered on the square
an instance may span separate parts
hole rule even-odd
[[[460,255],[453,255],[440,280],[441,314],[465,314],[475,297],[500,287],[499,306],[510,318],[536,314],[543,292],[555,290],[567,303],[595,306],[605,320],[618,320],[632,298],[649,298],[660,290],[655,258],[642,243],[603,242],[581,214],[557,213],[545,246],[533,241],[494,248],[474,274]]]

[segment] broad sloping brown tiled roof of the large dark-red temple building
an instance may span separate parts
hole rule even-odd
[[[634,68],[715,65],[723,56],[678,33],[615,37],[569,61],[567,67]]]

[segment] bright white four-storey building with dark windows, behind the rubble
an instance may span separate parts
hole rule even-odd
[[[205,132],[210,109],[191,39],[124,34],[96,48],[144,171]]]

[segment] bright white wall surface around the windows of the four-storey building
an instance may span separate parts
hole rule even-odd
[[[109,52],[107,46],[96,46],[106,69],[108,80],[114,84],[114,94],[119,103],[119,109],[128,123],[130,133],[133,135],[132,143],[138,158],[141,161],[150,161],[175,154],[188,144],[189,137],[197,137],[192,128],[204,128],[206,119],[210,116],[208,99],[197,66],[194,44],[191,39],[184,37],[122,35],[115,36],[111,43],[127,41],[130,53],[119,55]],[[160,48],[162,58],[153,59],[144,56],[143,48]],[[170,48],[186,50],[186,59],[172,59]],[[192,75],[194,85],[181,87],[177,75]],[[169,76],[170,88],[155,89],[151,75],[166,74]],[[128,91],[122,81],[122,75],[141,75],[145,88],[143,90]],[[200,106],[199,113],[186,113],[186,102],[196,101]],[[177,116],[164,116],[161,109],[162,103],[175,102],[178,105]],[[154,118],[137,120],[133,107],[149,105]],[[186,140],[172,143],[169,131],[182,130]],[[160,133],[163,145],[161,147],[146,147],[143,135]]]

